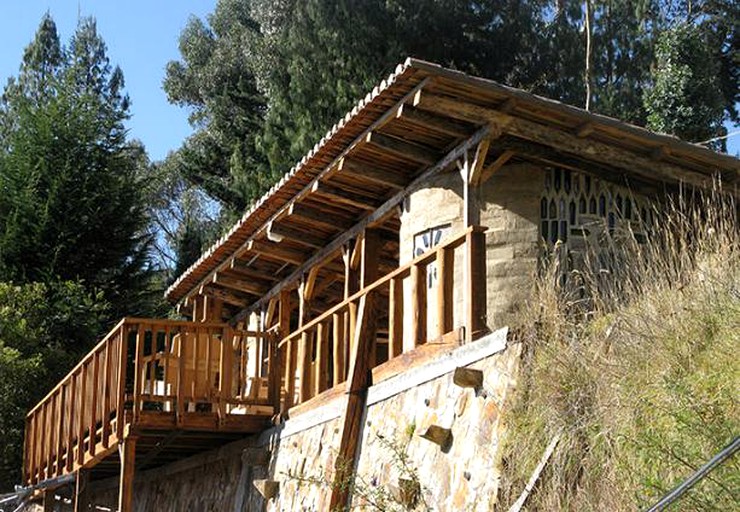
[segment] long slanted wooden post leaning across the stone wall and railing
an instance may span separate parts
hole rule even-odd
[[[334,467],[329,510],[343,510],[349,504],[349,480],[353,478],[357,447],[362,435],[362,415],[371,380],[370,349],[376,336],[376,292],[360,299],[356,343],[347,376],[347,409],[342,418],[339,450]]]

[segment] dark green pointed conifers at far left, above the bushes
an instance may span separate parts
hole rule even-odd
[[[44,17],[0,125],[0,278],[80,280],[116,316],[152,306],[139,176],[144,150],[126,140],[128,97],[95,22],[62,48]]]

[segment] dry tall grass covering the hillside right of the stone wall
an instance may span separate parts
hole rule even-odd
[[[528,510],[637,510],[740,433],[740,232],[719,192],[663,208],[645,244],[614,234],[565,279],[555,248],[524,308],[500,509],[562,439]],[[736,457],[676,510],[740,509]]]

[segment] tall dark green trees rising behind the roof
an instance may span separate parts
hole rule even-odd
[[[190,20],[167,68],[165,90],[196,128],[171,158],[241,212],[406,56],[576,106],[588,89],[595,112],[650,117],[697,142],[737,119],[737,11],[725,0],[220,0]],[[681,26],[686,58],[702,61],[692,76],[713,73],[687,85],[702,98],[665,65]],[[695,129],[668,121],[696,101],[712,113],[684,115]]]

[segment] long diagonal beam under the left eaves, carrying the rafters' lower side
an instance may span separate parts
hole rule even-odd
[[[270,300],[272,297],[280,293],[280,290],[282,288],[284,288],[285,286],[291,283],[295,283],[298,279],[300,279],[301,276],[309,268],[316,265],[317,263],[324,261],[328,257],[333,257],[334,254],[338,250],[340,250],[344,244],[346,244],[352,238],[356,237],[366,227],[374,226],[375,224],[384,220],[390,214],[394,213],[396,206],[403,200],[404,197],[424,187],[432,176],[435,176],[439,172],[447,169],[449,166],[454,165],[455,161],[458,158],[464,155],[471,147],[475,147],[478,144],[478,142],[480,142],[484,137],[486,137],[488,135],[489,130],[490,130],[490,127],[488,125],[483,126],[477,132],[475,132],[475,134],[473,134],[473,136],[471,136],[469,139],[461,142],[455,148],[450,150],[450,152],[447,153],[447,155],[445,155],[445,157],[442,158],[439,162],[437,162],[430,168],[423,171],[408,187],[406,187],[405,190],[398,191],[390,199],[388,199],[385,203],[383,203],[380,207],[378,207],[378,209],[375,210],[373,213],[363,218],[362,220],[357,222],[357,224],[355,224],[353,227],[347,229],[346,231],[341,233],[339,236],[334,238],[331,242],[329,242],[329,244],[326,247],[324,247],[320,251],[316,252],[313,256],[308,258],[302,265],[300,265],[297,269],[295,269],[289,276],[287,276],[280,283],[275,285],[269,292],[263,295],[263,297],[259,301],[252,304],[252,306],[248,310],[244,310],[238,313],[234,317],[232,322],[238,322],[239,320],[245,318],[252,311],[255,311],[258,308],[260,308],[268,300]]]

